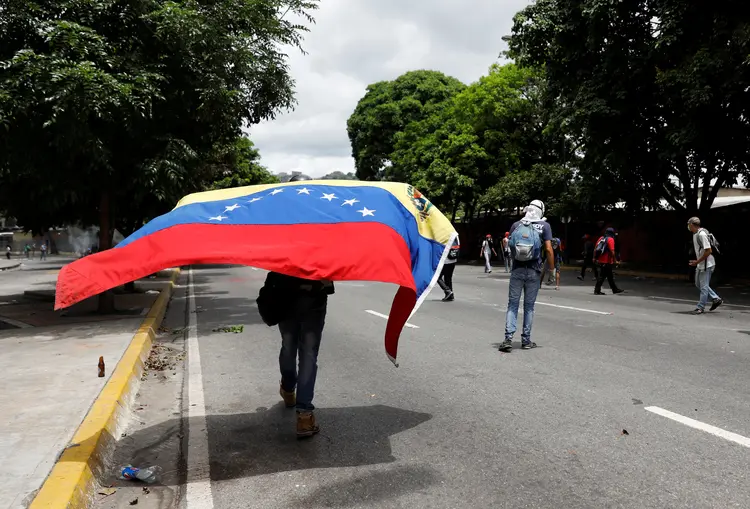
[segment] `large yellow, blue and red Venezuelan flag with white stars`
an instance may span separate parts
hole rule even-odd
[[[385,347],[437,281],[456,232],[412,186],[302,181],[186,196],[117,247],[65,266],[55,309],[182,265],[242,264],[307,279],[399,285]]]

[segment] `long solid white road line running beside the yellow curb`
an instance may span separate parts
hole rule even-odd
[[[198,349],[198,313],[193,292],[193,269],[188,271],[188,448],[187,486],[185,502],[187,509],[213,509],[211,476],[208,462],[208,425],[206,403],[203,394],[203,370]]]

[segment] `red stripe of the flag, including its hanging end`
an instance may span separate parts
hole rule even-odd
[[[196,264],[240,264],[307,279],[399,285],[386,327],[386,352],[393,360],[416,303],[408,246],[384,224],[187,224],[66,265],[57,279],[55,309],[162,269]]]

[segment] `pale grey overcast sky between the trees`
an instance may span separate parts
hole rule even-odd
[[[319,177],[354,171],[346,120],[370,83],[431,69],[476,81],[506,48],[513,15],[528,0],[321,0],[304,41],[290,53],[297,107],[253,126],[273,173]]]

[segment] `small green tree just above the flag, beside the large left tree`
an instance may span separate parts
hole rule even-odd
[[[237,138],[233,144],[219,150],[212,164],[215,168],[211,170],[211,173],[220,178],[209,186],[210,189],[279,182],[278,177],[272,175],[260,164],[260,152],[250,138],[245,136]]]

